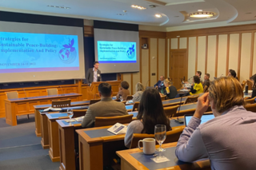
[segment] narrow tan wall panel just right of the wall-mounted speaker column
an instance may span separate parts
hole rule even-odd
[[[150,38],[150,85],[154,85],[158,80],[157,77],[157,53],[158,39]],[[153,75],[154,73],[154,75]]]

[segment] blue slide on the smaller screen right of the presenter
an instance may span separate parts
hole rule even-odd
[[[136,42],[98,41],[98,62],[99,63],[137,62]]]

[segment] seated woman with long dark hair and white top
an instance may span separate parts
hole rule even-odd
[[[137,119],[128,125],[125,137],[127,148],[130,148],[133,133],[154,134],[154,125],[166,125],[166,130],[171,130],[170,120],[164,113],[158,90],[146,89],[143,92],[142,100],[138,106]]]

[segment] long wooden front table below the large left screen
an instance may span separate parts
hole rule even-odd
[[[17,125],[17,116],[34,113],[34,105],[50,104],[54,100],[66,100],[78,101],[78,98],[82,94],[78,93],[66,93],[65,96],[53,95],[53,96],[41,96],[41,97],[27,97],[18,99],[6,99],[6,124]]]

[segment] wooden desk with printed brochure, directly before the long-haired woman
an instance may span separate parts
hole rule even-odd
[[[179,128],[181,126],[184,125],[178,125],[176,127],[172,125],[173,128]],[[80,170],[103,169],[103,165],[110,162],[107,159],[110,159],[114,155],[114,151],[126,149],[124,146],[125,134],[114,135],[106,130],[110,127],[76,130],[79,139]]]

